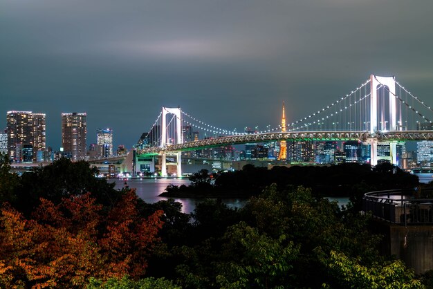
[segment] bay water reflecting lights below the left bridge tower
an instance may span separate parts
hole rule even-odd
[[[190,185],[187,178],[116,178],[109,180],[110,183],[116,183],[115,189],[125,187],[125,182],[131,189],[136,189],[136,194],[146,203],[156,203],[167,200],[167,197],[158,196],[165,191],[168,185]],[[201,200],[195,198],[174,198],[176,202],[182,204],[182,212],[190,214],[194,211],[196,203]],[[228,207],[243,207],[246,200],[238,198],[225,198],[222,200]]]

